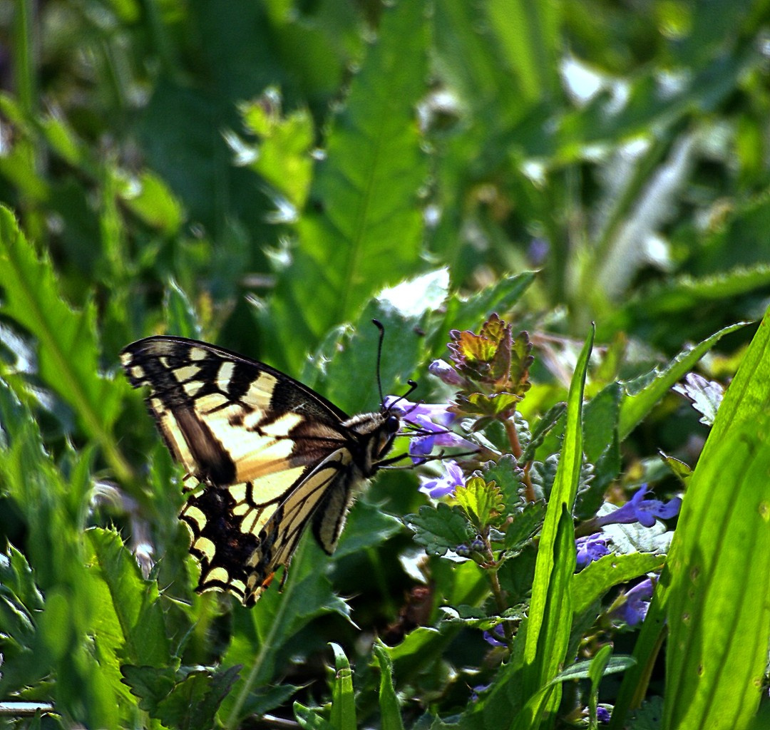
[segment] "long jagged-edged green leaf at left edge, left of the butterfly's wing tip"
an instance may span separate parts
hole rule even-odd
[[[102,377],[95,337],[96,310],[77,312],[62,298],[52,264],[39,257],[18,229],[12,213],[0,207],[2,312],[38,341],[39,375],[77,414],[85,433],[104,450],[119,479],[130,469],[112,436],[122,390]]]

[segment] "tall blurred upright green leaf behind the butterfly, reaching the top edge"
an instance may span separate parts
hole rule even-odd
[[[426,43],[423,5],[384,8],[377,42],[332,120],[299,245],[264,320],[286,365],[352,320],[374,290],[420,267],[416,203],[427,166],[415,108],[425,92]]]

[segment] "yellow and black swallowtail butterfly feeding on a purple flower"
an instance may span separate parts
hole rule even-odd
[[[331,554],[357,487],[399,458],[386,459],[401,424],[389,408],[350,417],[222,347],[147,337],[121,361],[133,387],[149,387],[149,411],[196,484],[179,516],[201,565],[198,591],[253,605],[308,526]]]

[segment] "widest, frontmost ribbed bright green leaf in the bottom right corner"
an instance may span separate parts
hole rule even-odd
[[[735,425],[691,477],[668,560],[672,730],[745,728],[757,711],[770,644],[768,474],[763,417]]]

